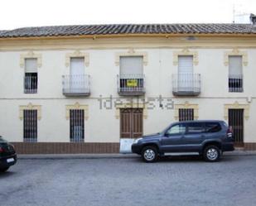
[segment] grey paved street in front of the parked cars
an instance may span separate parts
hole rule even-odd
[[[0,202],[21,205],[255,205],[256,156],[19,160],[0,175]]]

